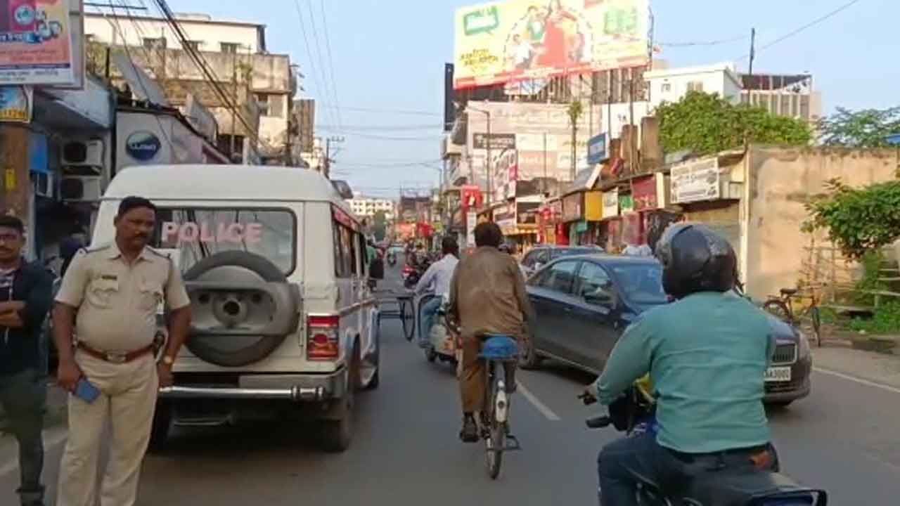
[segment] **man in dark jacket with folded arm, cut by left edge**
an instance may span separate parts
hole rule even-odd
[[[44,465],[41,429],[47,402],[40,364],[40,329],[51,303],[53,279],[22,258],[22,221],[0,216],[0,405],[19,443],[23,506],[42,506]]]

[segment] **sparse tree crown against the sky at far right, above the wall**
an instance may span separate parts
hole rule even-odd
[[[887,136],[900,133],[900,106],[851,111],[842,107],[819,124],[825,146],[886,148]]]

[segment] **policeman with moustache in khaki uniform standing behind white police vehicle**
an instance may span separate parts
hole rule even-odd
[[[190,300],[174,264],[147,246],[155,222],[153,203],[133,196],[123,199],[115,218],[115,241],[80,250],[59,288],[53,314],[58,382],[74,393],[78,380],[85,379],[100,395],[93,402],[69,396],[58,506],[94,506],[107,420],[112,427],[110,458],[100,504],[135,503],[157,392],[172,384],[172,365],[191,318]],[[163,301],[171,312],[169,339],[157,364],[153,340],[157,307]]]

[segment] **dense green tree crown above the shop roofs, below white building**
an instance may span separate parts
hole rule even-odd
[[[801,146],[812,140],[806,122],[776,116],[761,107],[734,105],[718,95],[689,92],[679,102],[656,109],[665,152],[689,149],[698,155],[762,144]]]

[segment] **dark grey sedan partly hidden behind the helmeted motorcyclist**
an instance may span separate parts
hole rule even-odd
[[[553,358],[593,374],[602,372],[616,341],[638,314],[668,303],[662,266],[654,258],[564,257],[528,280],[536,322],[522,366]],[[788,404],[810,391],[812,356],[798,330],[770,316],[778,346],[766,373],[765,401]]]

